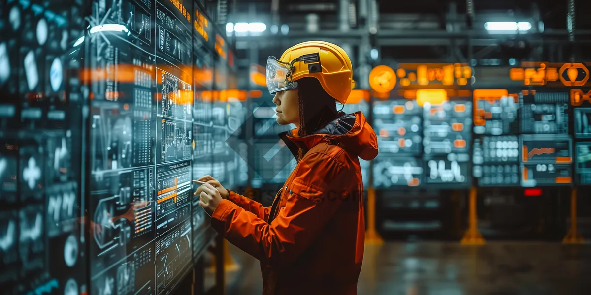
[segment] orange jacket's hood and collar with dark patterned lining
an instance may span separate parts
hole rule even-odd
[[[298,148],[310,150],[322,140],[337,143],[363,160],[372,160],[378,155],[378,139],[362,112],[352,114],[339,112],[337,119],[317,132],[304,137],[296,137],[296,135],[297,129],[279,135],[296,157]]]

